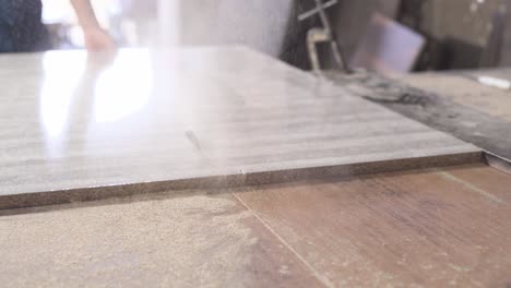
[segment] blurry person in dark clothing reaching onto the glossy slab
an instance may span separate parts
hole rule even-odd
[[[115,49],[112,38],[96,20],[90,0],[70,0],[83,29],[87,50]],[[40,0],[0,0],[0,52],[31,52],[51,48],[41,23]]]

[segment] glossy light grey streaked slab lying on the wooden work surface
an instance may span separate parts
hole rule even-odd
[[[139,183],[478,159],[472,145],[242,47],[7,55],[0,68],[0,207]]]

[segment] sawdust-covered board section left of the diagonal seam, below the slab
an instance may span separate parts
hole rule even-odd
[[[233,195],[0,217],[2,287],[321,287]]]

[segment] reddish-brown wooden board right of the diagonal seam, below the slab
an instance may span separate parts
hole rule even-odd
[[[477,166],[236,195],[332,287],[507,287],[510,179]]]

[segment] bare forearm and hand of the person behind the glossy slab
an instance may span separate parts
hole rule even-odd
[[[87,50],[111,50],[116,45],[110,35],[97,22],[90,0],[70,0],[82,26]]]

